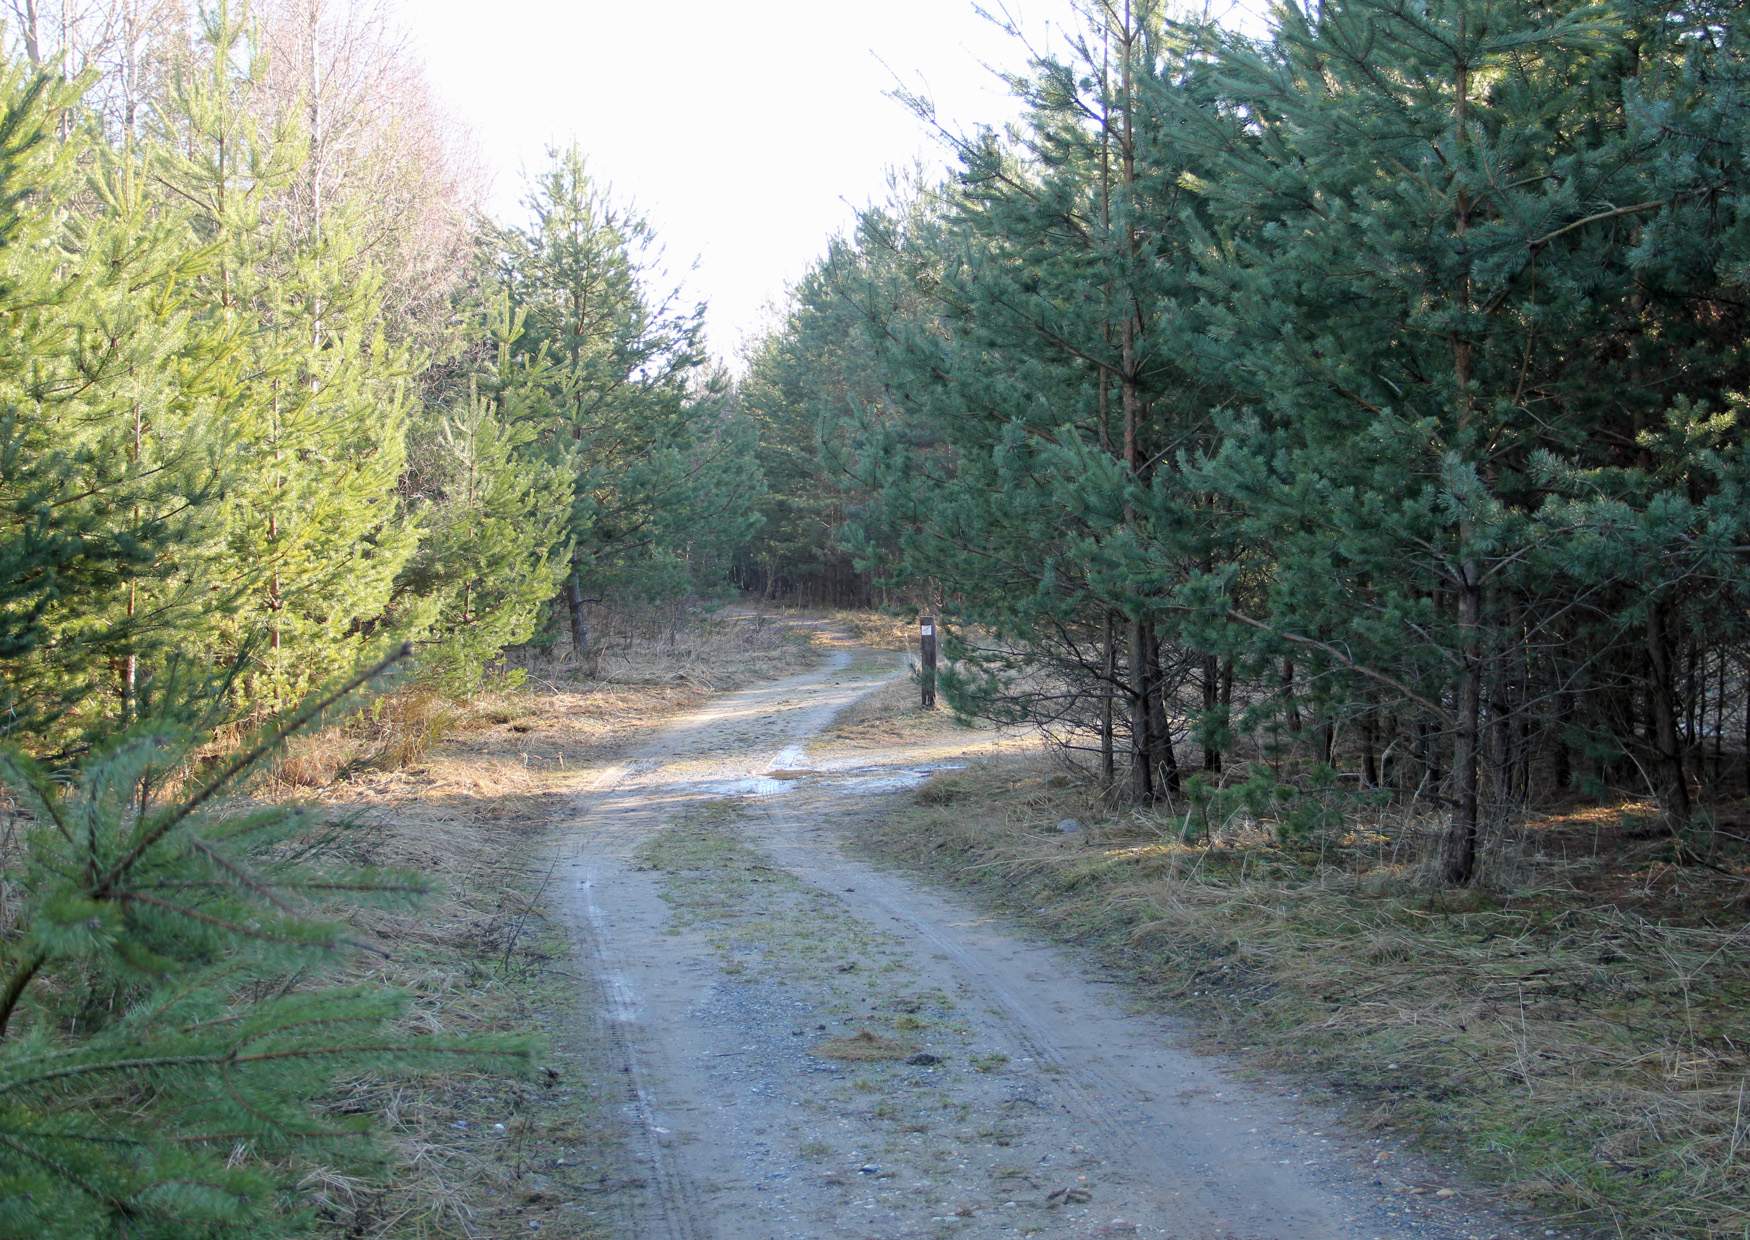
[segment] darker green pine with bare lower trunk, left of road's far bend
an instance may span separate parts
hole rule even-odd
[[[504,287],[527,317],[518,350],[548,366],[537,442],[576,469],[565,610],[592,661],[588,600],[698,584],[690,547],[710,526],[726,546],[746,533],[756,474],[707,381],[704,308],[656,285],[649,224],[576,149],[555,152],[528,206],[534,222],[506,238]]]

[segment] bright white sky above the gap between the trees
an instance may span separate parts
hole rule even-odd
[[[1069,14],[1006,7],[1040,42]],[[985,65],[1024,59],[971,0],[402,0],[401,17],[492,166],[495,213],[520,220],[522,173],[576,138],[732,362],[889,168],[945,163],[894,77],[964,128],[1013,115]]]

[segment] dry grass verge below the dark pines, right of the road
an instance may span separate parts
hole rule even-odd
[[[980,812],[970,812],[978,806]],[[1062,834],[1076,817],[1088,827]],[[1482,890],[1381,813],[1284,848],[1113,819],[1040,761],[936,777],[880,846],[1083,941],[1211,1037],[1323,1081],[1600,1235],[1750,1235],[1743,878],[1508,841]],[[1610,899],[1601,899],[1608,892]]]

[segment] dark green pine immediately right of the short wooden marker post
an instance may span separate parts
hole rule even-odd
[[[1125,733],[1141,801],[1176,789],[1181,684],[1200,673],[1214,705],[1223,684],[1213,651],[1174,640],[1171,607],[1186,565],[1216,554],[1176,455],[1223,397],[1216,371],[1185,364],[1180,215],[1197,201],[1160,119],[1185,73],[1172,35],[1157,5],[1090,9],[1066,58],[1013,80],[1027,105],[1013,142],[956,138],[962,171],[936,219],[868,217],[864,245],[914,254],[912,296],[933,310],[914,322],[886,310],[905,294],[847,294],[880,308],[882,376],[903,408],[900,425],[870,420],[863,483],[906,530],[903,572],[940,581],[948,616],[994,638],[950,642],[950,700],[1076,745],[1097,729],[1106,780]]]

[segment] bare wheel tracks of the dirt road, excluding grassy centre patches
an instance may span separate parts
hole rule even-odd
[[[625,1081],[626,1149],[644,1181],[639,1200],[623,1203],[632,1212],[625,1235],[1519,1235],[1463,1205],[1393,1200],[1356,1165],[1358,1140],[1314,1130],[1335,1128],[1328,1116],[1309,1119],[1288,1095],[1236,1084],[1176,1044],[1166,1021],[1116,1007],[1060,950],[842,852],[842,834],[886,801],[852,784],[833,787],[831,771],[807,768],[805,747],[838,710],[892,679],[852,680],[844,675],[849,665],[838,654],[816,672],[728,694],[672,722],[579,794],[576,829],[560,841],[560,860],[569,862],[560,911],[602,992],[595,1027]],[[763,778],[779,768],[782,778]],[[936,986],[970,1000],[957,1016],[961,1067],[942,1069],[933,1081],[906,1077],[903,1067],[882,1077],[884,1088],[898,1090],[896,1105],[906,1098],[966,1105],[970,1123],[928,1137],[948,1144],[910,1139],[906,1146],[896,1133],[912,1130],[864,1118],[856,1098],[866,1095],[831,1095],[835,1077],[814,1076],[831,1069],[807,1058],[802,1028],[817,1016],[800,1013],[836,1020],[847,1034],[864,1020],[842,1006],[840,1016],[828,1014],[836,992],[821,981],[817,964],[814,974],[784,974],[779,962],[765,979],[744,976],[738,964],[726,967],[710,930],[719,923],[709,916],[705,929],[677,923],[663,880],[634,864],[642,843],[719,803],[740,806],[742,829],[752,827],[742,845],[814,892],[808,899],[886,936],[880,967],[868,969],[872,985],[891,967],[900,971],[892,985]],[[814,943],[816,930],[775,925],[772,932]],[[978,1046],[1012,1049],[1017,1062],[982,1076],[985,1069],[966,1067],[976,1067]],[[934,1093],[906,1093],[926,1084]],[[1172,1088],[1171,1102],[1157,1097]],[[1022,1104],[1036,1111],[1022,1112]],[[980,1123],[1015,1133],[996,1142],[1003,1149],[975,1147]],[[882,1161],[891,1158],[900,1170],[870,1163],[850,1167],[847,1179],[796,1161],[796,1149],[840,1147],[835,1142],[852,1146],[850,1154],[886,1147]],[[915,1182],[884,1186],[880,1177],[894,1174]],[[1059,1184],[1052,1195],[1059,1198],[1088,1177],[1099,1184],[1099,1203],[1043,1209],[1046,1184]],[[1031,1205],[1001,1200],[1034,1181],[1045,1184],[1020,1189],[1020,1196],[1040,1193]],[[970,1214],[954,1207],[968,1193]],[[1113,1219],[1115,1210],[1130,1219]]]

